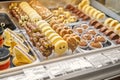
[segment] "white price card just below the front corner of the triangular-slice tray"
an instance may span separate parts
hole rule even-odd
[[[40,80],[40,79],[49,79],[49,76],[46,72],[44,66],[37,66],[32,68],[23,69],[24,74],[30,80]]]

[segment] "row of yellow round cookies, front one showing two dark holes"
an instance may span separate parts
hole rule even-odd
[[[42,33],[45,34],[45,36],[52,42],[52,45],[54,46],[54,52],[57,55],[62,55],[67,51],[67,42],[60,35],[58,35],[46,21],[38,21],[36,25],[39,29],[41,29]]]

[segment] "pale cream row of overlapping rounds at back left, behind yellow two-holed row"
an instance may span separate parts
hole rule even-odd
[[[27,2],[21,2],[19,6],[29,16],[32,22],[42,19],[41,16]]]

